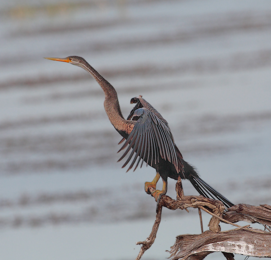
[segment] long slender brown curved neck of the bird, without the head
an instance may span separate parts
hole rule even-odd
[[[130,121],[127,121],[123,118],[123,115],[120,111],[120,104],[118,101],[117,92],[114,87],[106,79],[104,79],[104,77],[102,77],[98,73],[98,71],[96,71],[91,65],[89,65],[89,63],[81,63],[80,67],[88,71],[103,89],[105,95],[104,109],[111,124],[114,125],[118,132],[124,131],[126,133],[129,133],[130,131],[127,131],[127,124],[129,124],[128,122]]]

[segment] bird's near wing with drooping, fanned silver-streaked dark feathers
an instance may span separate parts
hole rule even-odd
[[[159,162],[159,158],[162,158],[172,162],[176,168],[176,171],[180,172],[182,170],[182,165],[178,160],[173,136],[167,125],[165,125],[154,113],[146,108],[139,108],[135,110],[133,117],[135,116],[138,116],[139,119],[134,125],[126,142],[119,150],[120,152],[129,145],[123,156],[121,156],[119,159],[120,161],[132,149],[123,167],[128,164],[128,162],[132,159],[133,154],[136,153],[127,171],[133,167],[137,157],[139,157],[134,170],[136,170],[141,159],[142,164],[145,160],[147,164],[152,166],[153,164],[155,165]]]

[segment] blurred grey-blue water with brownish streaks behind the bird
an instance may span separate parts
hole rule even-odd
[[[43,57],[83,56],[124,117],[138,95],[162,114],[203,180],[233,203],[271,203],[270,1],[0,3],[1,259],[135,259],[155,219],[144,191],[155,170],[117,163],[100,86]],[[177,235],[200,232],[197,210],[163,209],[142,259],[165,259]]]

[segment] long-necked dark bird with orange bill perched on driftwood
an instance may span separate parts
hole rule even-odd
[[[125,141],[119,152],[126,150],[118,162],[129,153],[129,157],[122,168],[131,162],[127,169],[129,171],[136,163],[135,171],[142,161],[140,167],[142,167],[143,162],[146,162],[147,166],[150,165],[156,170],[154,179],[151,182],[145,182],[145,191],[150,194],[148,188],[154,188],[151,194],[157,201],[157,212],[161,197],[167,193],[167,179],[178,180],[179,176],[181,179],[189,180],[200,195],[222,201],[226,207],[234,205],[202,180],[196,169],[183,159],[174,143],[168,122],[141,95],[131,99],[130,103],[136,105],[128,118],[124,119],[116,90],[85,59],[79,56],[45,59],[68,62],[79,66],[89,72],[101,86],[105,95],[104,109],[107,116],[117,132],[123,137],[119,144]],[[162,190],[157,190],[156,184],[160,177],[163,181],[163,187]]]

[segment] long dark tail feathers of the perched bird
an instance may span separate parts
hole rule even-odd
[[[234,204],[230,202],[227,198],[225,198],[222,194],[220,194],[218,191],[213,189],[208,183],[206,183],[204,180],[201,180],[200,177],[194,177],[191,176],[189,178],[192,185],[195,187],[195,189],[198,191],[198,193],[206,198],[212,198],[215,200],[222,201],[223,204],[226,207],[232,207]]]

